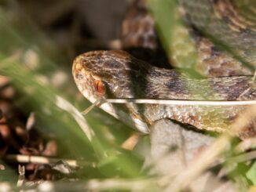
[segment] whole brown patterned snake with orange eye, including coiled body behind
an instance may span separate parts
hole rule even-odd
[[[254,2],[178,2],[184,11],[185,23],[193,31],[199,63],[208,64],[204,70],[199,67],[199,73],[207,77],[192,78],[182,70],[155,67],[122,50],[90,51],[77,56],[72,66],[75,84],[87,100],[91,103],[101,99],[256,100],[256,85],[251,76],[256,65],[256,20],[246,15],[248,12],[255,15],[256,11],[253,8],[247,12],[238,11],[239,7]],[[134,16],[130,14],[129,17]],[[142,17],[147,26],[154,24],[147,14],[143,13]],[[141,25],[137,25],[137,29],[140,28]],[[144,32],[152,31],[151,27],[143,29]],[[133,30],[135,34],[137,31],[141,30]],[[136,44],[136,39],[139,39],[143,44],[152,35],[153,44],[144,45],[157,46],[155,34],[145,34],[146,38],[134,38],[133,42]],[[137,37],[144,37],[143,33]],[[214,45],[215,37],[218,37],[218,45],[225,45],[227,49]],[[101,108],[144,133],[149,133],[150,126],[162,118],[193,125],[196,129],[232,132],[232,123],[248,106],[105,102],[101,103]],[[255,136],[255,122],[256,118],[251,119],[237,135],[241,138]]]

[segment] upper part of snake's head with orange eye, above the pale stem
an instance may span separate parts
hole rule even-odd
[[[79,91],[91,102],[99,98],[134,98],[143,94],[144,63],[123,51],[93,51],[75,58],[73,76]],[[133,83],[132,83],[133,82]]]

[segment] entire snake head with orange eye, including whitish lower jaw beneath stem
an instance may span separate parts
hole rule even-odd
[[[75,58],[72,73],[79,91],[95,103],[99,99],[141,98],[146,70],[144,62],[123,51],[93,51]],[[133,128],[148,132],[136,105],[103,103],[101,108]]]

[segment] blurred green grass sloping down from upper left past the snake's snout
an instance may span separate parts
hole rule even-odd
[[[76,172],[81,181],[143,176],[140,156],[120,148],[130,129],[98,109],[86,117],[79,113],[90,103],[75,86],[70,58],[15,1],[0,7],[0,39],[0,74],[14,87],[12,106],[21,111],[24,124],[35,113],[34,129],[40,137],[57,141],[54,158],[81,162]],[[2,182],[15,187],[19,163],[3,159],[1,164]]]

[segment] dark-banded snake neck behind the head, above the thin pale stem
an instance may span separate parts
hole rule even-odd
[[[255,88],[251,87],[251,77],[236,76],[223,78],[188,78],[175,70],[152,67],[142,71],[144,75],[130,78],[131,93],[134,98],[170,100],[250,100]],[[241,99],[241,98],[240,98]]]

